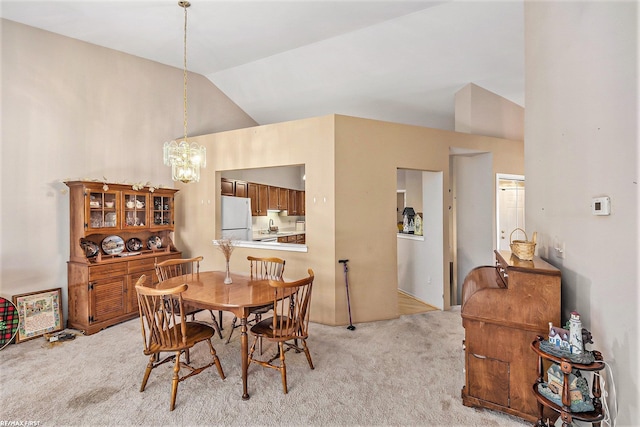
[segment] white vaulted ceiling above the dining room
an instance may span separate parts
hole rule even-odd
[[[192,0],[187,68],[259,124],[336,113],[453,129],[468,83],[524,107],[523,13],[523,0]],[[183,67],[177,0],[2,0],[0,16]]]

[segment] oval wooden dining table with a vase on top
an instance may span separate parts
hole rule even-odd
[[[164,280],[158,289],[169,289],[186,283],[188,288],[182,299],[207,310],[230,311],[240,319],[242,361],[242,399],[249,399],[247,371],[249,368],[249,341],[247,318],[252,309],[273,303],[274,292],[268,280],[254,280],[248,274],[231,273],[233,283],[225,284],[225,272],[205,271]],[[286,298],[286,296],[285,296]]]

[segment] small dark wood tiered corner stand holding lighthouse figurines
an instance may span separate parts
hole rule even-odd
[[[595,361],[589,364],[582,364],[572,362],[570,359],[566,357],[558,357],[549,353],[544,352],[540,349],[540,343],[544,340],[542,336],[536,337],[536,339],[531,343],[531,349],[538,356],[538,379],[533,385],[533,394],[538,401],[538,408],[540,418],[534,427],[545,427],[544,423],[544,410],[545,408],[550,408],[555,412],[560,414],[560,418],[562,419],[562,427],[572,426],[573,420],[580,420],[592,423],[595,427],[600,427],[600,421],[604,419],[604,414],[602,413],[602,402],[600,397],[602,396],[602,390],[600,386],[600,374],[599,371],[604,369],[604,362],[602,361],[602,354],[599,351],[594,351]],[[560,366],[560,369],[563,373],[563,389],[562,389],[562,406],[552,402],[547,399],[544,395],[542,395],[538,391],[538,385],[544,383],[544,373],[545,373],[545,361],[551,361],[552,363],[556,363]],[[593,376],[593,384],[591,386],[591,393],[593,394],[592,403],[594,410],[588,412],[572,412],[571,410],[571,397],[570,397],[570,389],[569,389],[569,374],[573,370],[579,371],[590,371],[596,372]]]

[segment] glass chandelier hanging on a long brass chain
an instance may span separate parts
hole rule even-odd
[[[187,8],[188,1],[179,1],[178,6],[184,9],[184,139],[164,143],[164,164],[171,166],[171,178],[185,184],[200,181],[200,168],[207,165],[207,149],[196,142],[187,140]]]

